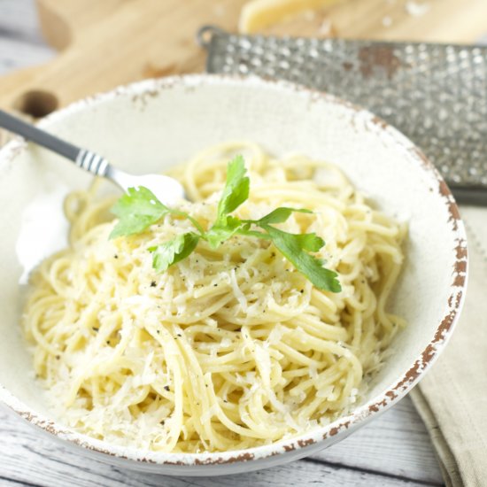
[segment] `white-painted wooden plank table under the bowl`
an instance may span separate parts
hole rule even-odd
[[[103,1],[103,0],[101,0]],[[0,75],[53,55],[32,0],[0,0]],[[89,460],[41,436],[0,406],[0,486],[387,486],[443,485],[433,447],[409,398],[340,444],[260,472],[213,478],[145,475]]]

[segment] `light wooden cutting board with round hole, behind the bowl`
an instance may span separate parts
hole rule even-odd
[[[473,43],[487,33],[487,0],[341,0],[263,34]],[[43,66],[0,78],[0,106],[43,116],[131,81],[201,72],[204,24],[236,31],[245,0],[37,0],[43,34],[59,50]],[[414,2],[413,2],[414,4]]]

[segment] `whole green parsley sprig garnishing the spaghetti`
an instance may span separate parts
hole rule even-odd
[[[228,163],[227,182],[221,193],[216,220],[205,230],[189,213],[162,204],[151,190],[143,186],[129,188],[112,207],[112,213],[119,221],[113,228],[110,238],[140,234],[167,214],[172,214],[189,220],[195,229],[148,249],[152,252],[152,267],[158,272],[163,272],[186,259],[196,249],[200,239],[205,240],[213,249],[217,249],[232,236],[243,235],[272,241],[275,248],[313,282],[316,288],[340,292],[342,287],[336,272],[323,267],[325,262],[310,253],[320,251],[325,245],[320,236],[314,233],[291,234],[273,226],[288,220],[292,213],[312,212],[282,206],[259,220],[240,220],[230,213],[235,212],[248,199],[249,190],[250,180],[246,175],[243,157],[236,156]]]

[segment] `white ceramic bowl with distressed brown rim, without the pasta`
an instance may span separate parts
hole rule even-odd
[[[41,126],[137,174],[162,171],[229,139],[250,139],[278,156],[300,151],[341,166],[384,212],[409,220],[406,266],[390,304],[409,326],[396,337],[394,353],[352,414],[301,437],[246,451],[130,450],[56,421],[30,372],[31,358],[19,330],[22,267],[16,257],[20,252],[25,259],[26,219],[33,201],[37,208],[60,202],[63,190],[86,188],[91,176],[47,151],[22,141],[9,143],[0,151],[0,398],[51,437],[79,445],[80,452],[169,475],[229,474],[295,460],[343,439],[402,398],[451,335],[467,271],[457,206],[421,151],[371,113],[283,82],[196,75],[116,89],[56,112]],[[60,208],[46,205],[42,214],[31,247],[45,243],[47,250],[56,244],[46,237],[55,235]]]

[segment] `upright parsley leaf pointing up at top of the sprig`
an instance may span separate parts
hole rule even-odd
[[[233,158],[227,167],[227,182],[221,193],[218,203],[217,224],[225,222],[225,216],[234,212],[249,197],[251,182],[245,173],[243,157],[238,155]]]

